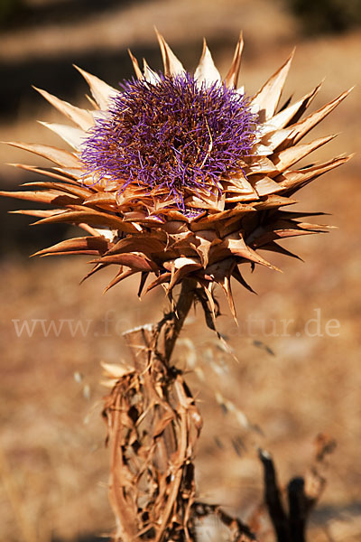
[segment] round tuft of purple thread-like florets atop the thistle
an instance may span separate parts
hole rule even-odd
[[[81,159],[95,182],[164,189],[184,210],[199,189],[221,192],[219,180],[242,168],[255,144],[256,117],[249,100],[218,82],[190,74],[160,76],[157,84],[128,80],[97,119]]]

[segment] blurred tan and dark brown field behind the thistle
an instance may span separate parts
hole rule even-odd
[[[297,45],[283,100],[301,98],[326,78],[316,109],[356,84],[309,136],[339,133],[311,160],[355,153],[360,23],[360,0],[0,0],[0,139],[58,145],[36,120],[60,116],[32,85],[86,106],[88,89],[72,64],[116,86],[132,75],[129,47],[159,70],[156,25],[189,70],[205,36],[222,74],[243,30],[240,83],[249,95]],[[0,163],[2,190],[36,178],[7,163],[45,165],[5,145]],[[222,304],[219,329],[239,362],[219,350],[200,312],[190,315],[174,356],[189,370],[205,419],[201,499],[247,521],[263,499],[257,446],[273,453],[286,484],[310,466],[319,433],[337,440],[311,519],[316,542],[361,538],[360,165],[356,154],[300,192],[299,209],[328,212],[324,220],[338,227],[284,243],[305,263],[273,257],[282,274],[257,269],[247,276],[258,296],[235,286],[239,327]],[[162,292],[138,301],[132,279],[103,295],[106,272],[79,286],[87,258],[29,259],[71,232],[28,227],[29,218],[6,212],[19,207],[0,201],[0,538],[100,540],[113,528],[100,361],[126,360],[121,333],[159,320],[166,304]],[[233,410],[221,408],[216,394]],[[273,540],[266,521],[262,540]]]

